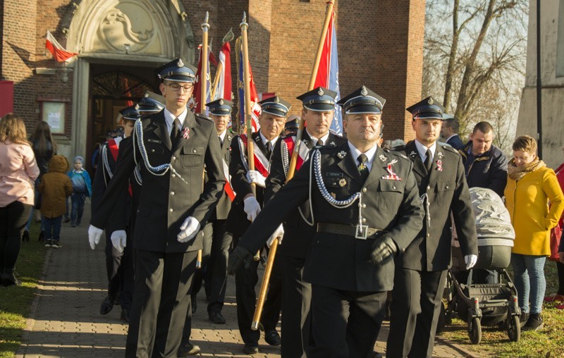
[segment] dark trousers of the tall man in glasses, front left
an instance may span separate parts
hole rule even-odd
[[[176,357],[197,252],[135,252],[135,297],[125,357]]]

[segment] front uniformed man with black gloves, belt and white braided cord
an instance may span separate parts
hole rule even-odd
[[[229,273],[244,266],[309,199],[317,233],[304,268],[312,284],[308,357],[372,354],[393,285],[393,257],[410,245],[423,218],[412,163],[376,144],[384,99],[362,86],[338,104],[348,142],[312,150],[241,237],[228,266]]]

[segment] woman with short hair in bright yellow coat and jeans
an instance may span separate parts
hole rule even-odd
[[[537,156],[537,141],[529,135],[517,137],[513,142],[505,206],[515,228],[511,254],[515,288],[522,316],[528,316],[522,331],[537,331],[543,326],[544,262],[551,253],[551,228],[558,224],[564,210],[564,195],[554,171]]]

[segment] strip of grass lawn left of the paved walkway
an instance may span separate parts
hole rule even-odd
[[[22,242],[16,262],[20,287],[0,286],[0,358],[13,357],[22,342],[25,321],[37,290],[47,249],[37,241],[39,224],[33,224],[30,242]]]

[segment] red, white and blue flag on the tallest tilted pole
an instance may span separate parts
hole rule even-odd
[[[339,91],[339,61],[337,55],[337,33],[335,32],[335,11],[331,14],[327,35],[321,50],[321,59],[319,60],[319,69],[315,78],[315,87],[325,87],[329,90],[337,92],[336,101],[341,99]],[[341,107],[335,104],[335,116],[331,123],[331,131],[338,135],[343,134],[343,116]]]

